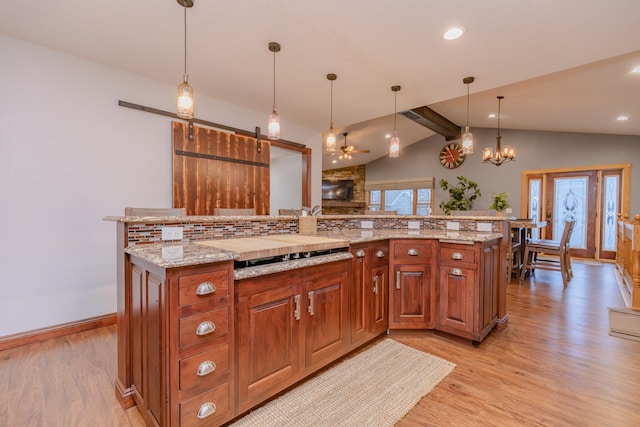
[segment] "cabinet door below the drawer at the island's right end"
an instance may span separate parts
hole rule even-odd
[[[474,284],[473,269],[440,267],[438,329],[474,338]]]

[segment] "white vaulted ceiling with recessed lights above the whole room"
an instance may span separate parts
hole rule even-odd
[[[188,9],[189,81],[266,118],[273,96],[286,123],[320,132],[333,121],[348,143],[386,155],[398,111],[428,105],[459,125],[487,118],[502,95],[502,128],[640,135],[638,0],[194,0]],[[466,34],[442,39],[451,25]],[[0,2],[0,33],[177,85],[183,73],[183,8],[176,0]],[[7,58],[3,58],[7,66]],[[616,122],[618,115],[630,117]],[[200,117],[215,121],[215,117]],[[397,117],[401,145],[433,134]],[[342,136],[338,142],[343,142]]]

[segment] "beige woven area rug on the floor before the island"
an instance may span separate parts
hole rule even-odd
[[[387,338],[231,425],[393,426],[454,368],[451,362]]]

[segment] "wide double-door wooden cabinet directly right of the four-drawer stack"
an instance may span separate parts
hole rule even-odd
[[[349,350],[349,262],[236,282],[237,413]]]

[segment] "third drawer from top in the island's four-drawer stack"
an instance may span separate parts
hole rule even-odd
[[[180,390],[211,382],[229,370],[229,346],[216,347],[180,361]]]

